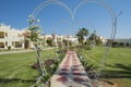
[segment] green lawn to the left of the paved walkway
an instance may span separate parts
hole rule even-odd
[[[43,60],[55,58],[53,50],[40,52]],[[31,87],[38,77],[32,65],[36,62],[36,53],[15,53],[0,55],[0,87]]]

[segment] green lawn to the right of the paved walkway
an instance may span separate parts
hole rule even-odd
[[[98,66],[105,49],[95,47],[90,54],[87,50],[83,52],[90,64]],[[131,87],[131,48],[111,48],[102,76],[117,83],[118,87]]]

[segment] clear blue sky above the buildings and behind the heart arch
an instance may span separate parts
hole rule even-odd
[[[47,0],[0,0],[0,23],[11,25],[22,29],[28,26],[28,15],[35,8]],[[60,0],[70,9],[73,9],[82,0]],[[131,0],[105,0],[117,15],[122,14],[117,20],[116,38],[131,38]],[[108,11],[98,3],[90,2],[81,7],[74,15],[74,26],[72,32],[72,20],[69,12],[59,5],[52,4],[44,8],[36,15],[40,20],[39,25],[43,34],[55,32],[59,35],[75,34],[79,28],[85,27],[90,34],[94,28],[97,35],[106,38],[110,37],[111,18]]]

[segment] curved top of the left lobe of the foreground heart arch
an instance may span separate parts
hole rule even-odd
[[[36,9],[33,11],[32,15],[35,17],[41,9],[44,9],[50,4],[58,4],[62,8],[64,8],[70,13],[71,18],[73,18],[73,13],[72,13],[71,9],[67,4],[64,4],[62,1],[59,1],[59,0],[48,0],[48,1],[43,2],[41,4],[36,7]]]

